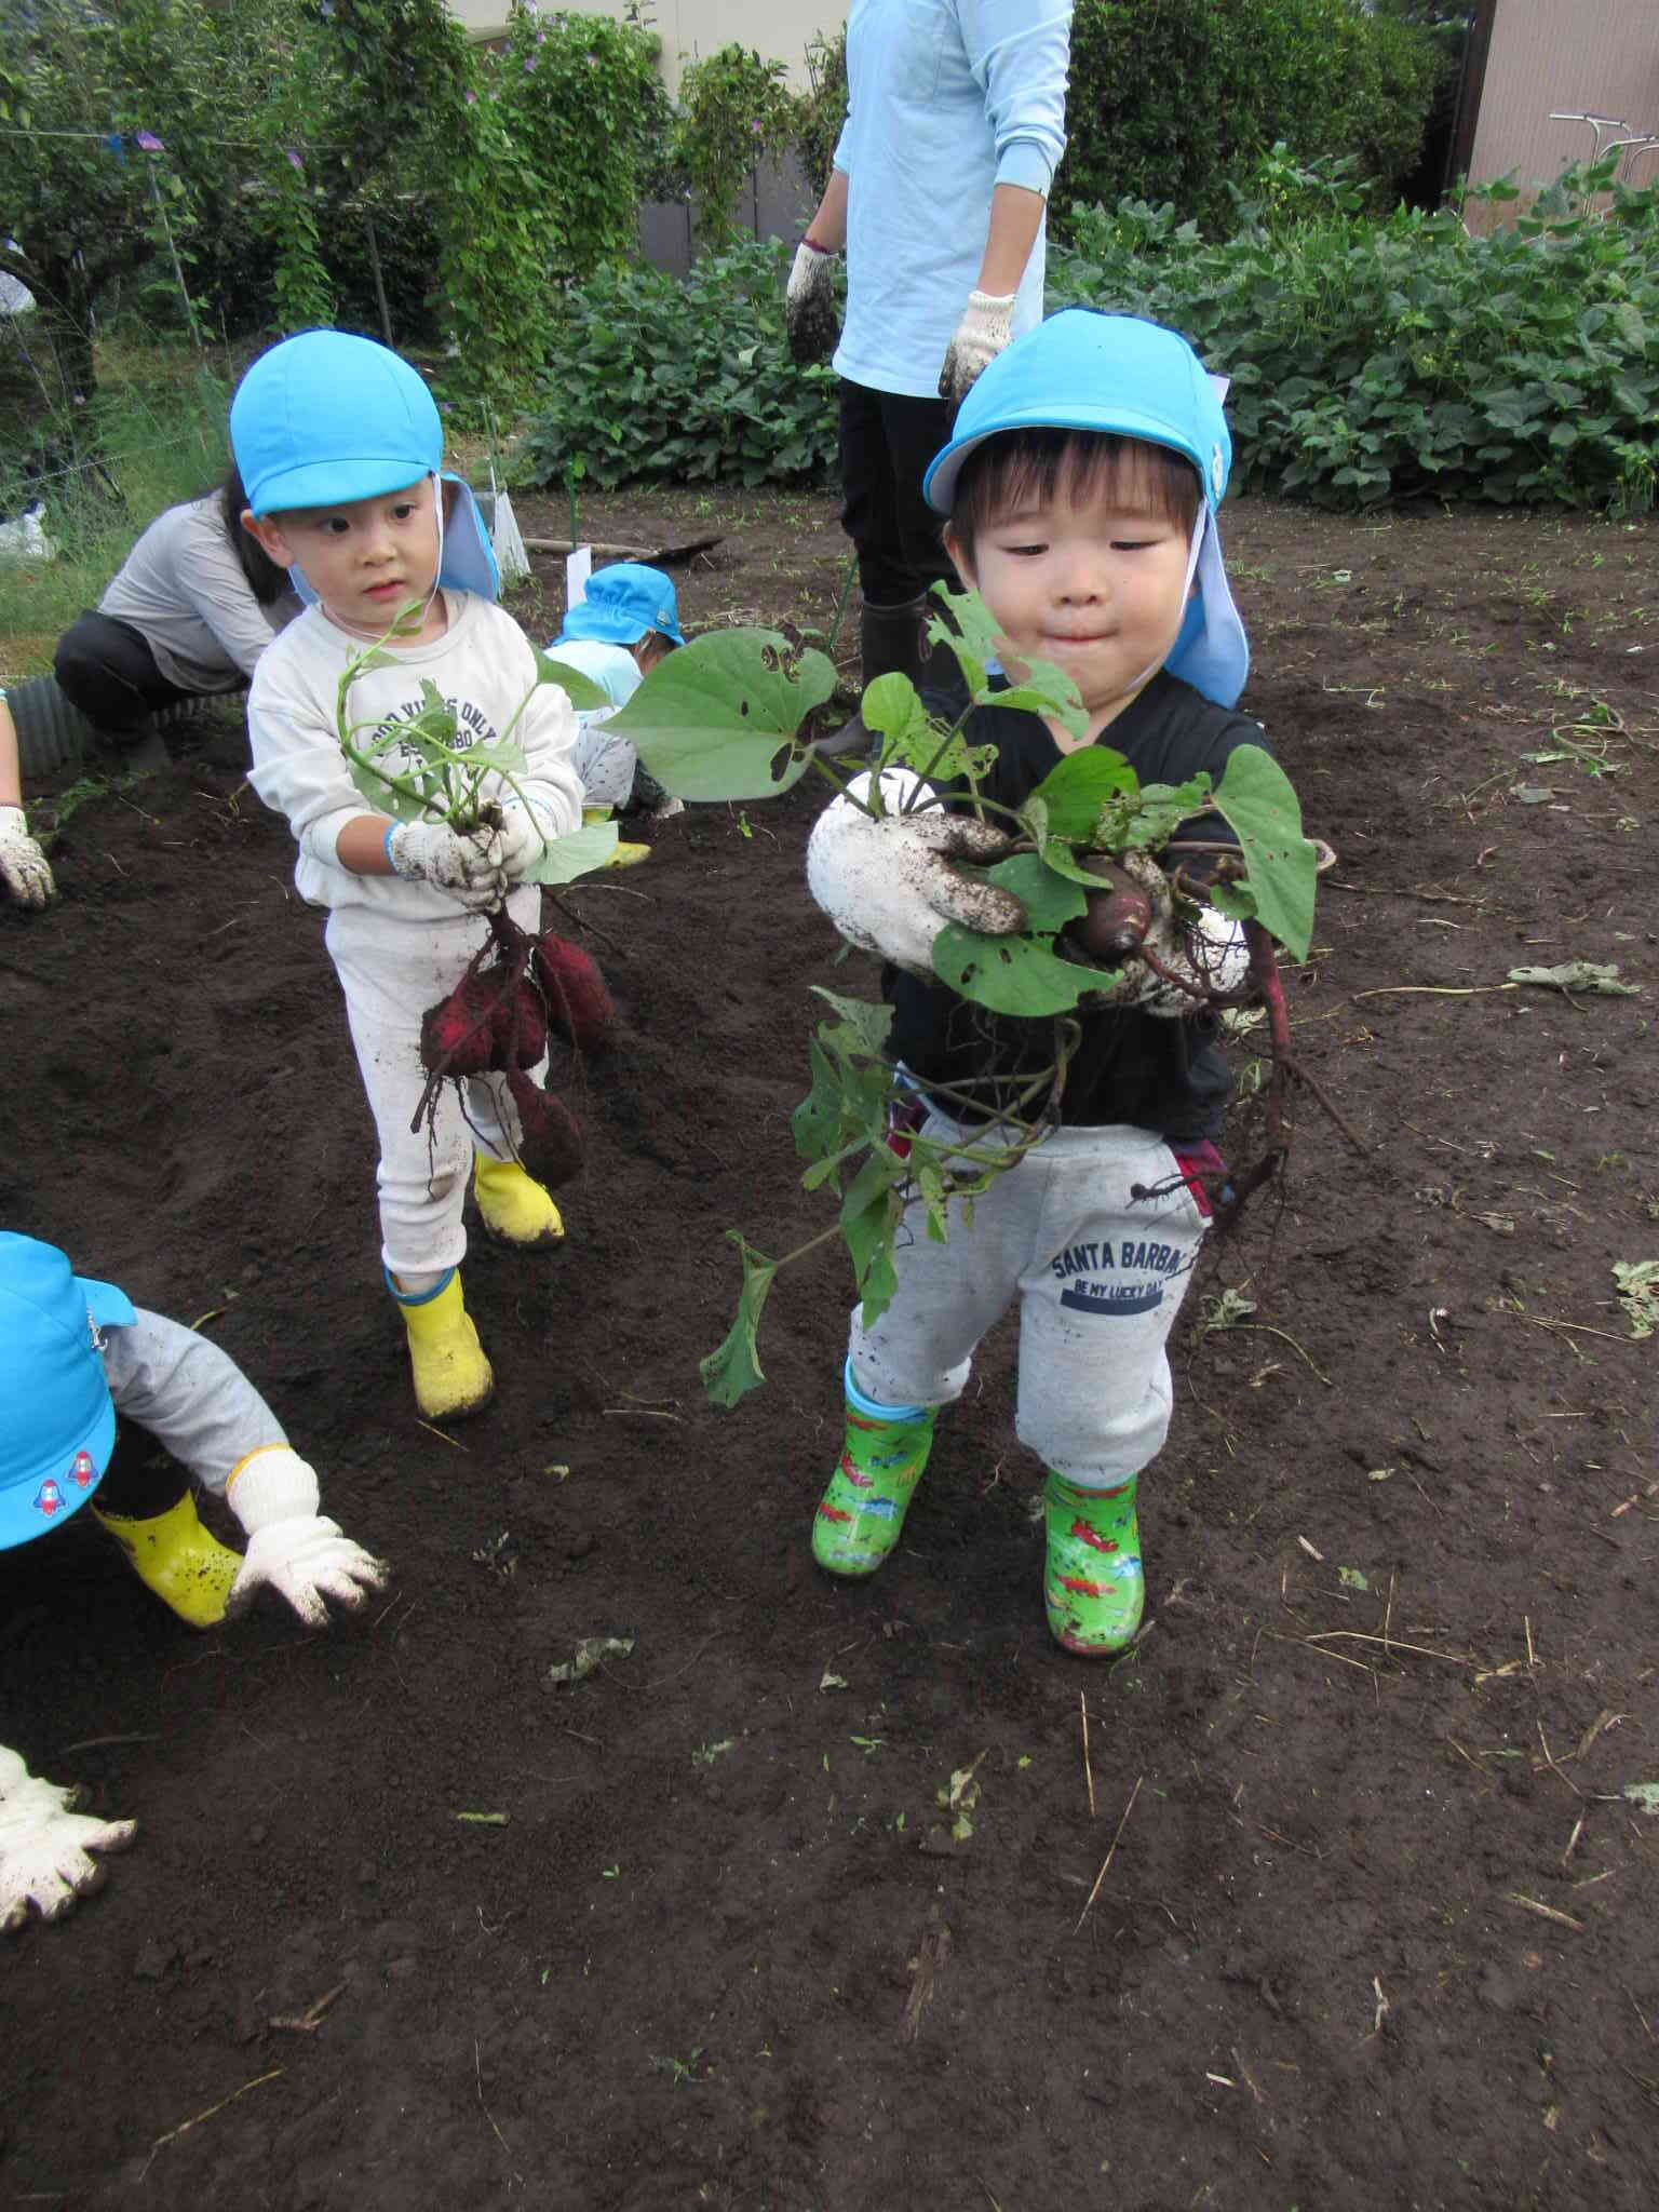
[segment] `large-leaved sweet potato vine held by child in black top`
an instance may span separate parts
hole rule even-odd
[[[909,677],[876,677],[860,706],[874,737],[863,796],[801,734],[834,688],[832,664],[774,630],[723,630],[695,639],[653,668],[613,717],[615,730],[633,739],[650,774],[679,799],[781,796],[816,770],[852,805],[878,818],[880,774],[900,765],[920,779],[905,812],[942,803],[936,779],[964,790],[980,821],[998,814],[1011,836],[1006,858],[967,874],[1013,891],[1026,909],[1026,929],[1020,936],[984,936],[947,925],[933,940],[933,969],[949,989],[991,1013],[1051,1024],[1046,1066],[1022,1073],[1011,1099],[987,1108],[973,1086],[931,1086],[947,1106],[984,1117],[982,1139],[964,1144],[958,1135],[942,1141],[909,1128],[914,1091],[885,1057],[891,1009],[816,987],[832,1020],[818,1024],[810,1046],[812,1088],[794,1110],[792,1130],[796,1152],[807,1161],[805,1188],[832,1186],[841,1208],[832,1228],[783,1259],[768,1259],[741,1230],[728,1230],[743,1261],[743,1287],[726,1340],[701,1363],[703,1385],[717,1405],[730,1407],[765,1380],[757,1329],[772,1279],[825,1239],[838,1234],[847,1245],[865,1325],[887,1310],[898,1287],[894,1237],[905,1208],[920,1197],[927,1234],[949,1241],[951,1201],[971,1208],[993,1177],[1048,1135],[1060,1119],[1066,1068],[1082,1037],[1077,1011],[1088,1006],[1091,993],[1117,982],[1128,962],[1141,962],[1168,987],[1186,991],[1194,1013],[1265,1009],[1265,1150],[1234,1177],[1232,1217],[1285,1157],[1283,1097],[1296,1068],[1274,940],[1296,960],[1307,956],[1318,865],[1316,847],[1303,836],[1290,779],[1267,752],[1243,745],[1228,759],[1221,783],[1199,774],[1179,785],[1144,785],[1119,752],[1095,743],[1068,752],[1022,807],[998,805],[982,790],[991,748],[969,745],[962,734],[969,712],[995,701],[1053,714],[1082,734],[1084,708],[1071,679],[1046,661],[1033,661],[1022,684],[993,690],[987,664],[1000,637],[989,608],[978,593],[940,588],[940,599],[945,615],[933,617],[931,635],[953,650],[967,679],[967,706],[947,726],[927,712]],[[1228,821],[1237,847],[1170,843],[1183,821],[1206,810]],[[1243,925],[1250,971],[1239,989],[1186,982],[1141,942],[1152,909],[1135,867],[1155,865],[1152,854],[1168,860],[1177,920],[1192,922],[1210,905]],[[1188,874],[1188,860],[1203,860],[1206,869]],[[909,1139],[902,1152],[889,1141],[898,1124]]]

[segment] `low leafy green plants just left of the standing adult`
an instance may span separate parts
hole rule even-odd
[[[520,447],[524,478],[562,482],[577,462],[606,487],[827,473],[836,378],[790,361],[783,279],[783,248],[739,246],[684,281],[608,268],[571,290]]]

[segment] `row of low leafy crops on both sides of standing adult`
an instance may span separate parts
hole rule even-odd
[[[1659,186],[1568,175],[1513,230],[1369,221],[1267,161],[1276,228],[1241,199],[1206,243],[1175,210],[1073,210],[1048,307],[1148,314],[1232,378],[1234,489],[1332,507],[1438,495],[1635,513],[1659,471]],[[1303,179],[1303,206],[1283,179]],[[1323,212],[1318,212],[1323,210]],[[524,440],[533,482],[830,476],[834,376],[783,338],[787,254],[750,246],[681,285],[617,270],[566,294]]]

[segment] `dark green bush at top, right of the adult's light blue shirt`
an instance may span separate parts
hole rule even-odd
[[[1378,204],[1418,157],[1436,46],[1358,0],[1077,0],[1055,206],[1170,201],[1208,230],[1274,139],[1356,155]]]

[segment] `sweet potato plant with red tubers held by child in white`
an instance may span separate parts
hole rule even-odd
[[[387,637],[396,635],[418,602],[403,608]],[[520,776],[529,772],[522,748],[513,745],[524,708],[540,684],[557,684],[575,708],[604,706],[599,688],[575,668],[535,655],[538,684],[520,699],[500,739],[478,743],[460,732],[456,710],[438,686],[422,677],[420,712],[403,723],[352,719],[352,686],[374,668],[394,666],[380,644],[347,661],[334,708],[334,726],[352,783],[378,814],[396,821],[447,823],[462,834],[500,830],[502,812],[484,790],[507,785],[524,799]],[[595,823],[560,838],[544,838],[540,856],[520,883],[573,883],[604,867],[617,843],[615,823]],[[456,1086],[467,1110],[467,1079],[504,1075],[518,1108],[518,1159],[526,1175],[549,1190],[566,1183],[582,1166],[582,1133],[564,1099],[535,1084],[529,1071],[544,1057],[549,1026],[577,1051],[602,1051],[611,1031],[611,993],[593,960],[553,931],[529,936],[507,911],[504,898],[478,907],[489,936],[467,964],[449,998],[427,1006],[420,1020],[420,1064],[427,1082],[411,1128],[425,1121],[436,1144],[436,1113],[442,1086]]]

